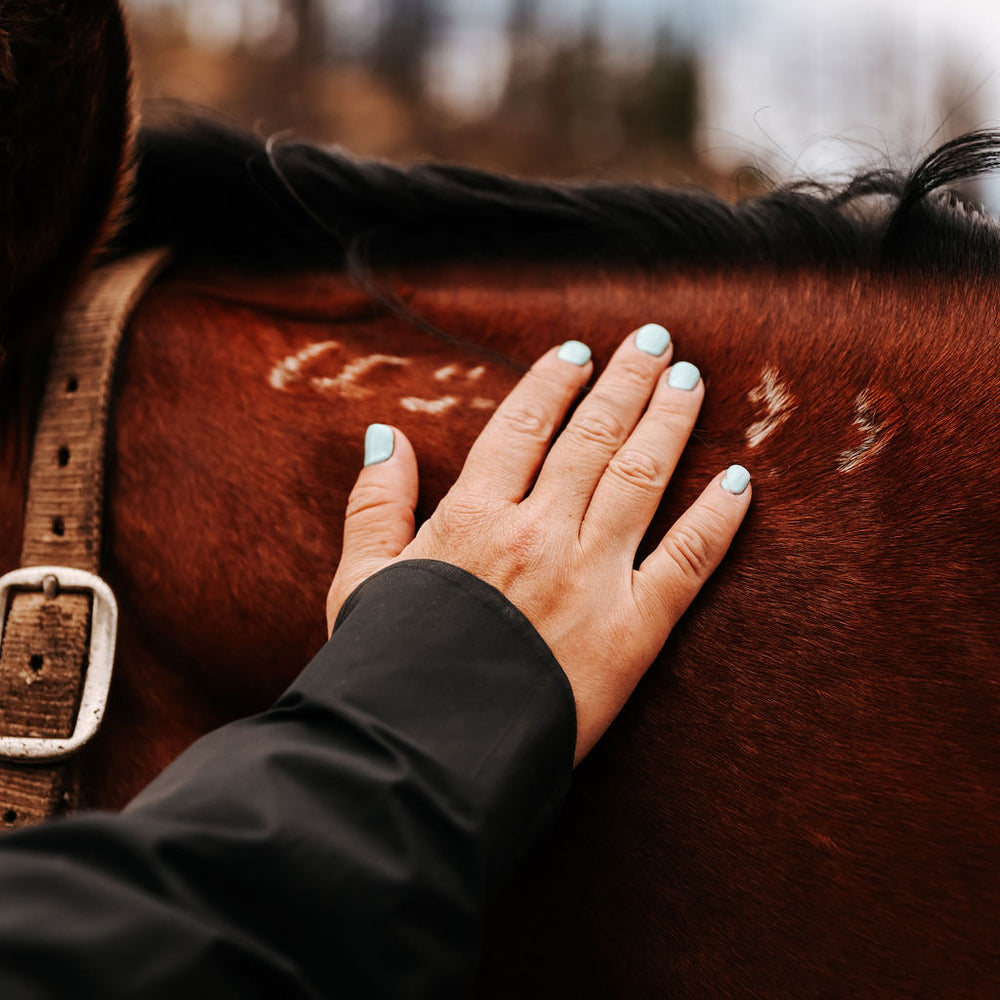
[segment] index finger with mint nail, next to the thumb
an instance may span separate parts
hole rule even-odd
[[[539,358],[483,428],[452,492],[521,500],[592,371],[590,348],[576,340]]]

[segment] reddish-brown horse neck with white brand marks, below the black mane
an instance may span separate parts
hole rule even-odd
[[[580,997],[780,983],[877,1000],[902,982],[949,992],[954,954],[985,968],[995,932],[968,900],[995,868],[1000,820],[989,283],[565,268],[383,280],[423,328],[336,275],[192,266],[141,307],[111,448],[105,575],[123,632],[92,801],[120,804],[199,732],[264,707],[323,641],[369,422],[413,441],[427,516],[545,348],[584,340],[600,367],[657,321],[707,396],[648,543],[730,462],[754,473],[754,504],[578,772],[507,925],[539,937],[501,936],[496,967],[539,984],[576,970]],[[544,905],[526,906],[531,892]],[[897,892],[905,906],[887,904]],[[552,968],[511,958],[542,953]]]

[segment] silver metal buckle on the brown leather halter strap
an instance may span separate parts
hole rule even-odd
[[[43,590],[47,577],[55,577],[59,592],[83,591],[93,598],[87,673],[76,726],[71,736],[0,736],[0,760],[24,760],[35,764],[62,760],[83,747],[104,718],[115,662],[118,604],[111,588],[99,576],[69,566],[28,566],[0,577],[0,641],[7,631],[11,591]]]

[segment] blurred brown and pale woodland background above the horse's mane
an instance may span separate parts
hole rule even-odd
[[[143,97],[397,162],[709,187],[1000,120],[996,0],[126,0]],[[973,192],[996,210],[1000,186]]]

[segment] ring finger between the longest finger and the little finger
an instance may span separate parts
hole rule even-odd
[[[608,462],[584,515],[581,539],[635,552],[684,451],[705,385],[694,365],[668,368],[629,439]]]

